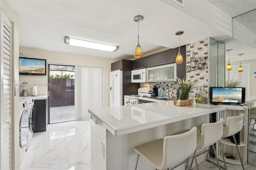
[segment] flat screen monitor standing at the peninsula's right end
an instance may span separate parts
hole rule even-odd
[[[211,104],[244,103],[245,87],[210,87]]]

